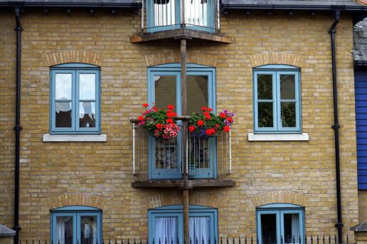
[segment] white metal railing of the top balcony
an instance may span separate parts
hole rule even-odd
[[[154,32],[186,26],[216,32],[220,29],[219,4],[220,0],[147,0],[147,9],[142,4],[142,30]]]

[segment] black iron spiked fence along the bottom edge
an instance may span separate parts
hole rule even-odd
[[[186,243],[186,241],[181,241],[182,244]],[[309,235],[309,236],[287,236],[283,238],[282,236],[277,238],[265,238],[262,237],[262,240],[258,238],[252,237],[252,235],[244,235],[244,236],[233,236],[233,237],[219,237],[213,238],[211,240],[205,240],[201,238],[199,240],[196,238],[193,240],[190,238],[186,244],[353,244],[354,240],[349,239],[349,235],[344,237],[342,243],[339,243],[336,235]],[[82,240],[76,240],[76,243],[73,240],[20,240],[19,244],[180,244],[180,240],[171,238],[171,240],[151,240],[142,239],[142,238],[110,238],[110,239],[102,239],[98,240],[97,238],[88,238]]]

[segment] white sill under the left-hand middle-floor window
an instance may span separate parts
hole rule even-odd
[[[107,134],[43,134],[43,142],[107,142]]]

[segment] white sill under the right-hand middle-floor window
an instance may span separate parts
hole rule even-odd
[[[253,134],[248,133],[249,142],[309,141],[309,134]]]

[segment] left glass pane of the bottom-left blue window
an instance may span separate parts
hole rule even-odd
[[[73,244],[73,216],[56,217],[56,242]]]

